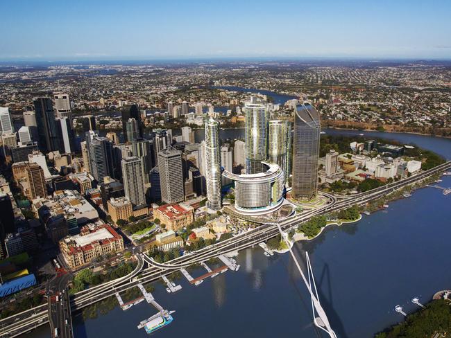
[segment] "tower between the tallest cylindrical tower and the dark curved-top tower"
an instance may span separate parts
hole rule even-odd
[[[287,121],[269,121],[268,127],[268,161],[278,164],[284,172],[285,181],[288,179],[287,170]]]

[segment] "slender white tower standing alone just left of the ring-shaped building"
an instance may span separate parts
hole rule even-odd
[[[221,155],[219,154],[219,128],[213,119],[205,122],[205,179],[207,180],[207,206],[221,208]]]

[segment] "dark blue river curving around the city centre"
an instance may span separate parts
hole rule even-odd
[[[326,130],[327,134],[361,132]],[[196,132],[196,139],[201,138]],[[223,132],[223,138],[240,137],[243,130]],[[451,140],[414,134],[363,132],[414,143],[451,159]],[[443,177],[441,186],[451,186]],[[338,337],[373,337],[375,332],[402,321],[393,306],[416,310],[414,296],[426,303],[434,292],[451,287],[449,243],[451,195],[423,188],[408,199],[391,202],[389,208],[364,217],[355,224],[330,226],[318,238],[297,242],[294,249],[308,251],[320,300]],[[241,251],[241,269],[208,278],[199,286],[185,279],[183,289],[167,294],[155,283],[155,299],[176,310],[171,325],[156,337],[326,337],[312,325],[309,294],[288,254],[266,258],[262,249]],[[199,276],[198,269],[192,274]],[[108,314],[83,321],[74,317],[74,336],[146,337],[139,321],[155,309],[140,303],[127,311],[114,308]],[[29,337],[49,337],[49,328]]]

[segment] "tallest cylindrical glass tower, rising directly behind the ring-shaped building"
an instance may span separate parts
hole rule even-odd
[[[246,114],[246,172],[262,172],[262,161],[266,161],[267,114],[266,106],[257,98],[251,97],[244,104]]]

